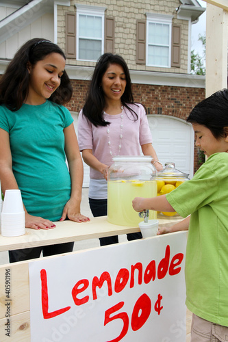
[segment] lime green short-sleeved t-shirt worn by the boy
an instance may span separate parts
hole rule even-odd
[[[228,153],[211,155],[166,199],[179,215],[191,214],[186,305],[195,315],[228,326]]]

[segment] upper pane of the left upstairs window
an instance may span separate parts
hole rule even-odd
[[[79,36],[84,38],[100,38],[102,34],[101,16],[79,14]]]

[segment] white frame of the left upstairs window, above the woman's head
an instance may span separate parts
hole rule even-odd
[[[104,53],[104,32],[105,32],[105,7],[99,6],[89,6],[89,5],[81,5],[79,3],[75,4],[77,8],[77,25],[76,25],[76,58],[79,59],[79,15],[91,15],[91,16],[100,16],[101,17],[101,55]],[[88,37],[86,37],[88,38]],[[92,40],[97,40],[96,38],[92,37]],[[100,39],[99,39],[100,40]],[[81,60],[81,61],[88,61],[88,62],[97,62],[97,60]]]

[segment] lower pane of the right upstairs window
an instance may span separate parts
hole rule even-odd
[[[148,65],[168,66],[168,47],[148,47]]]

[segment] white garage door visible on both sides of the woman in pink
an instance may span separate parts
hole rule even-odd
[[[71,112],[77,133],[77,114]],[[153,147],[164,164],[173,161],[178,170],[193,176],[194,132],[191,124],[172,116],[148,116],[153,137]],[[84,163],[83,187],[88,187],[90,169]]]

